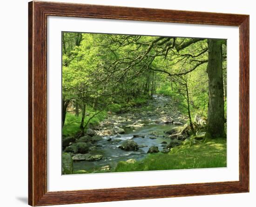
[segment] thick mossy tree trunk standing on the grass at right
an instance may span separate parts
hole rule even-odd
[[[209,105],[206,136],[210,138],[225,137],[221,41],[208,40],[208,53]]]

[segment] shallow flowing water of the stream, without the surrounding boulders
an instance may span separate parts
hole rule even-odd
[[[162,96],[155,96],[154,99],[148,103],[148,105],[151,106],[151,113],[149,115],[146,114],[143,116],[139,113],[136,119],[122,123],[122,126],[125,126],[132,122],[135,122],[136,120],[141,120],[141,123],[146,123],[144,127],[138,127],[135,129],[123,127],[125,129],[125,134],[103,136],[103,140],[98,141],[96,144],[94,144],[94,148],[89,153],[91,155],[103,155],[102,160],[74,162],[74,171],[94,171],[99,169],[100,167],[107,165],[111,167],[116,167],[119,161],[126,161],[128,159],[141,160],[145,156],[147,156],[148,149],[151,146],[157,146],[159,151],[162,151],[163,147],[166,146],[166,144],[163,144],[162,142],[165,141],[168,143],[170,141],[170,139],[166,137],[166,134],[164,132],[175,127],[175,125],[155,123],[154,120],[161,117],[160,114],[155,113],[155,109],[168,109],[168,107],[170,107],[168,106],[168,104],[168,98]],[[119,114],[119,116],[121,117],[125,117],[126,115],[127,114]],[[153,131],[155,131],[154,133],[156,133],[157,136],[150,135],[150,132]],[[134,137],[134,135],[136,135],[136,137]],[[109,138],[111,138],[110,141]],[[139,145],[139,150],[124,151],[119,149],[118,146],[120,146],[126,140],[134,140]]]

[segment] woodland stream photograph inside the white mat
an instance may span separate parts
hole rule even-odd
[[[61,40],[65,174],[226,166],[226,40]]]

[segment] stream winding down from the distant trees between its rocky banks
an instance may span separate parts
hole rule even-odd
[[[171,100],[164,96],[154,95],[153,99],[148,101],[147,106],[149,109],[146,112],[142,112],[141,107],[136,107],[124,114],[110,117],[109,120],[112,120],[112,125],[109,125],[109,123],[107,126],[104,123],[101,124],[101,127],[104,129],[113,126],[122,127],[125,129],[125,133],[103,136],[103,140],[94,144],[89,153],[91,155],[103,155],[102,160],[74,162],[74,171],[86,170],[92,172],[107,165],[116,167],[119,161],[126,161],[128,159],[141,160],[147,156],[148,149],[151,146],[157,146],[159,151],[162,151],[166,143],[170,141],[164,132],[176,126],[170,123],[158,123],[155,120],[166,116],[171,116],[177,120],[177,117],[181,116],[181,114],[173,107]],[[143,107],[144,109],[145,106]],[[127,119],[131,115],[132,118]],[[113,120],[115,120],[114,123]],[[121,121],[118,122],[117,120]],[[178,119],[177,121],[181,120]],[[145,126],[135,128],[124,127],[134,122],[145,124]],[[139,145],[139,150],[124,151],[118,148],[126,140],[134,140]]]

